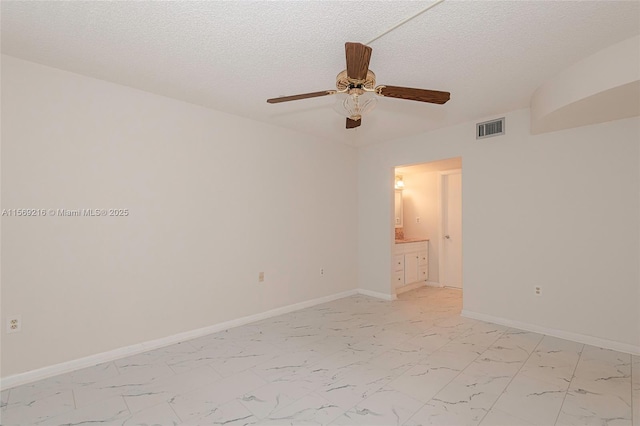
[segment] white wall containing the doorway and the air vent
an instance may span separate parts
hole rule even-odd
[[[360,287],[391,292],[393,167],[461,156],[464,309],[640,351],[640,119],[537,136],[528,110],[506,119],[361,149]]]

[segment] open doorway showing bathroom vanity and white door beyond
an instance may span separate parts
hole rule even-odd
[[[462,289],[462,159],[398,166],[394,172],[395,211],[402,215],[393,225],[396,294],[424,285]],[[416,269],[418,280],[413,282]]]

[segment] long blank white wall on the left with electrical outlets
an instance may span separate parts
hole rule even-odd
[[[356,288],[356,151],[2,57],[2,375]],[[319,270],[324,268],[324,278]],[[259,271],[266,282],[258,284]]]

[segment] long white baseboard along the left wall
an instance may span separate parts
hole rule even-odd
[[[263,319],[275,317],[289,312],[297,311],[300,309],[308,308],[322,303],[331,302],[333,300],[342,299],[343,297],[353,296],[360,293],[360,290],[349,290],[342,293],[331,294],[329,296],[319,297],[317,299],[307,300],[305,302],[295,303],[293,305],[283,306],[276,309],[271,309],[266,312],[262,312],[255,315],[249,315],[242,318],[237,318],[230,321],[225,321],[219,324],[214,324],[208,327],[198,328],[196,330],[185,331],[183,333],[174,334],[172,336],[163,337],[161,339],[150,340],[148,342],[137,343],[135,345],[126,346],[123,348],[114,349],[107,352],[102,352],[95,355],[90,355],[84,358],[78,358],[71,361],[63,362],[60,364],[54,364],[51,366],[39,368],[37,370],[31,370],[24,373],[14,374],[12,376],[4,377],[0,379],[0,389],[5,390],[20,386],[26,383],[35,382],[37,380],[46,379],[48,377],[57,376],[58,374],[69,373],[71,371],[80,370],[86,367],[92,367],[94,365],[102,364],[103,362],[109,362],[120,358],[125,358],[131,355],[136,355],[142,352],[150,351],[152,349],[162,348],[164,346],[173,345],[175,343],[184,342],[185,340],[195,339],[196,337],[206,336],[207,334],[217,333],[219,331],[227,330],[229,328],[239,327],[241,325],[249,324]],[[373,293],[373,292],[371,292]],[[365,293],[363,293],[365,294]],[[382,293],[378,293],[382,294]],[[377,297],[377,296],[373,296]]]

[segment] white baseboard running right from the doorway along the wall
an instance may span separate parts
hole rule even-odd
[[[558,337],[560,339],[572,340],[574,342],[584,343],[586,345],[597,346],[605,349],[612,349],[614,351],[630,353],[633,355],[640,355],[640,346],[631,345],[628,343],[616,342],[614,340],[602,339],[600,337],[588,336],[586,334],[572,333],[570,331],[563,331],[563,330],[556,330],[553,328],[541,327],[535,324],[514,321],[507,318],[494,317],[491,315],[468,311],[466,309],[463,309],[460,315],[466,318],[492,322],[494,324],[505,325],[507,327],[517,328],[520,330],[546,334],[547,336]]]

